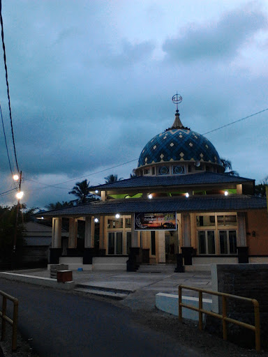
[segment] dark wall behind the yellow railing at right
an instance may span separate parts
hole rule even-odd
[[[255,298],[260,304],[262,345],[268,347],[268,264],[214,264],[211,266],[213,291]],[[212,298],[212,310],[222,312],[221,298]],[[254,325],[252,303],[228,299],[228,317]],[[207,317],[211,332],[221,331],[221,321]],[[240,342],[245,347],[254,347],[255,334],[246,328],[229,324],[228,339]]]

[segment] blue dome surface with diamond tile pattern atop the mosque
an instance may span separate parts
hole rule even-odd
[[[215,147],[206,137],[192,130],[173,129],[161,132],[144,146],[137,167],[170,160],[200,160],[221,165]]]

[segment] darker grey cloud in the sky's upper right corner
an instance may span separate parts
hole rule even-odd
[[[188,24],[177,38],[165,40],[163,51],[175,62],[232,59],[261,29],[267,29],[265,14],[246,6],[223,14],[218,22]]]

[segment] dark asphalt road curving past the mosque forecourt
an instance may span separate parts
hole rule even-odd
[[[199,356],[110,303],[6,280],[0,290],[19,299],[20,332],[40,357]]]

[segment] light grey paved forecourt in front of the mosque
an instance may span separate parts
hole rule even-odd
[[[50,278],[50,272],[41,269],[15,271],[14,273]],[[159,292],[178,294],[179,284],[211,289],[209,272],[174,273],[172,266],[163,266],[161,272],[73,271],[73,280],[75,284],[82,284],[84,287],[128,291],[129,294],[121,303],[134,310],[154,309],[156,294]],[[197,296],[195,291],[184,290],[183,294]]]

